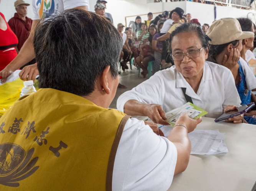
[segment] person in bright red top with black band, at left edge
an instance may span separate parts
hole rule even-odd
[[[0,12],[0,71],[5,68],[16,56],[15,47],[18,45],[18,38]]]

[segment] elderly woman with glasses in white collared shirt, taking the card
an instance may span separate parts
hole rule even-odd
[[[240,106],[231,71],[205,61],[208,41],[200,26],[182,24],[172,32],[170,42],[175,66],[155,73],[122,94],[117,100],[119,110],[128,115],[148,116],[154,123],[168,125],[165,112],[187,103],[185,95],[208,112],[206,117],[217,118],[223,111]],[[233,123],[242,120],[243,116],[228,119]]]

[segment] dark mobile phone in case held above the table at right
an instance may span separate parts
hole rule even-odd
[[[249,103],[247,105],[243,105],[241,107],[237,107],[235,110],[229,110],[224,112],[220,117],[216,118],[214,121],[217,123],[219,121],[223,121],[228,118],[236,117],[238,115],[241,115],[243,113],[248,112],[251,108],[255,106],[254,102]]]

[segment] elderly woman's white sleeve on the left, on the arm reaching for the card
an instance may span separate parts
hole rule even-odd
[[[163,84],[161,73],[155,73],[148,80],[120,95],[117,99],[117,109],[124,112],[124,104],[131,99],[145,104],[163,105],[165,94],[165,86]]]

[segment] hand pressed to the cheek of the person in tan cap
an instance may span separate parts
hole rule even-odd
[[[230,56],[224,55],[222,60],[222,65],[230,69],[231,71],[235,67],[235,65],[238,63],[238,60],[240,59],[240,52],[238,49],[231,49]]]

